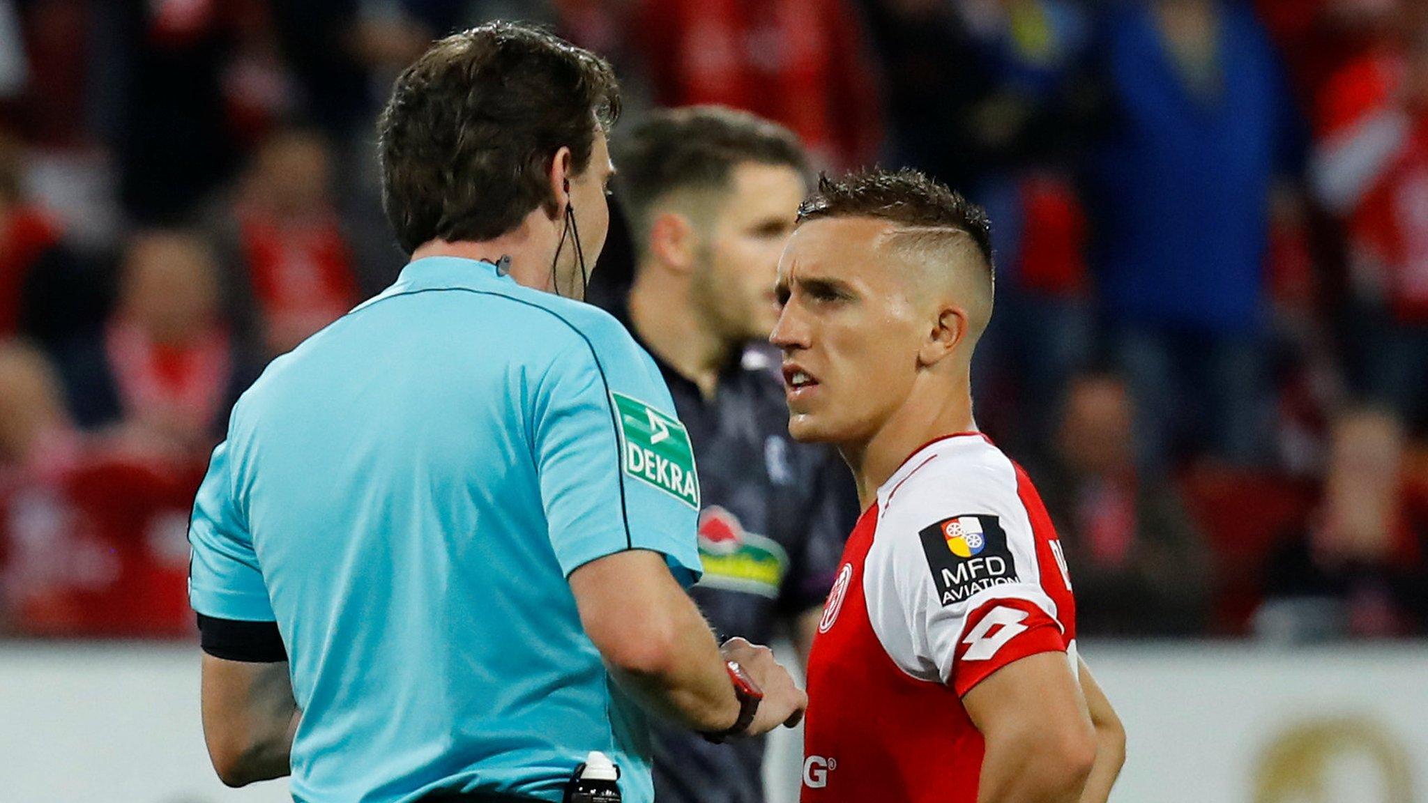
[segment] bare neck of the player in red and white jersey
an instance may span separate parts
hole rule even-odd
[[[867,509],[877,502],[878,489],[924,444],[975,430],[970,380],[962,379],[952,389],[932,383],[914,389],[871,439],[840,447],[857,480],[858,504]]]

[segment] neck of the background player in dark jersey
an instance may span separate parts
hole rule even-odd
[[[641,270],[635,276],[630,289],[630,324],[664,364],[711,399],[737,344],[704,326],[700,314],[690,309],[687,287],[658,287],[660,280],[651,277],[653,273]]]

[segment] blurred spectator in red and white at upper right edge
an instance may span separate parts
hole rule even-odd
[[[1314,181],[1348,237],[1352,379],[1428,424],[1428,27],[1385,30],[1348,61],[1315,127]]]

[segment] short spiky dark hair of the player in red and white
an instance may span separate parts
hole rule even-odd
[[[887,244],[912,259],[948,264],[971,256],[985,276],[990,307],[995,284],[991,221],[947,184],[911,169],[868,170],[837,180],[820,176],[818,191],[798,206],[798,223],[828,217],[887,220],[895,226]]]

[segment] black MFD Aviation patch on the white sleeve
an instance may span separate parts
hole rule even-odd
[[[922,527],[922,552],[942,604],[955,604],[1017,580],[1017,563],[1001,522],[987,513],[965,513]]]

